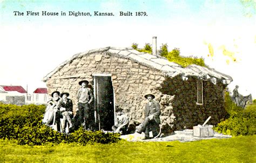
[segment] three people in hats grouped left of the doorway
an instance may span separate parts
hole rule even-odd
[[[45,110],[43,118],[45,125],[51,126],[59,132],[66,132],[67,125],[69,129],[76,127],[75,124],[78,124],[77,126],[83,125],[85,128],[90,127],[89,105],[93,100],[92,91],[87,87],[89,81],[82,80],[78,84],[81,87],[77,91],[78,111],[76,114],[73,114],[73,101],[68,98],[69,93],[54,91],[51,93],[52,98],[48,101],[48,106]]]

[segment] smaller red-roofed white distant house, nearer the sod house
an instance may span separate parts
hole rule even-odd
[[[47,93],[46,88],[38,88],[33,91],[32,102],[35,104],[46,104],[49,99],[49,95]]]

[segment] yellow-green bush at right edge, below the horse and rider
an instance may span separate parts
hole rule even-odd
[[[233,136],[256,134],[256,106],[248,106],[245,109],[241,108],[233,103],[227,92],[225,96],[225,109],[230,114],[230,118],[221,120],[214,127],[215,131]]]

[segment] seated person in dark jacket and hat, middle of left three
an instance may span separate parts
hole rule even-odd
[[[64,123],[62,124],[62,132],[65,131],[65,122],[68,120],[69,128],[72,128],[72,122],[71,118],[73,117],[73,102],[71,99],[69,99],[69,93],[63,92],[60,94],[60,97],[62,98],[59,102],[60,107],[60,113],[63,116]]]

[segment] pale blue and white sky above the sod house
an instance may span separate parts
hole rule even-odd
[[[255,0],[0,0],[0,8],[0,85],[28,85],[32,93],[46,87],[43,77],[76,53],[132,43],[143,47],[157,36],[158,49],[167,43],[169,51],[177,47],[181,56],[203,57],[208,66],[233,78],[231,91],[239,85],[241,94],[256,99]],[[59,15],[43,16],[42,11]],[[91,16],[69,15],[78,11]],[[95,11],[114,16],[94,16]],[[120,16],[120,11],[133,15]]]

